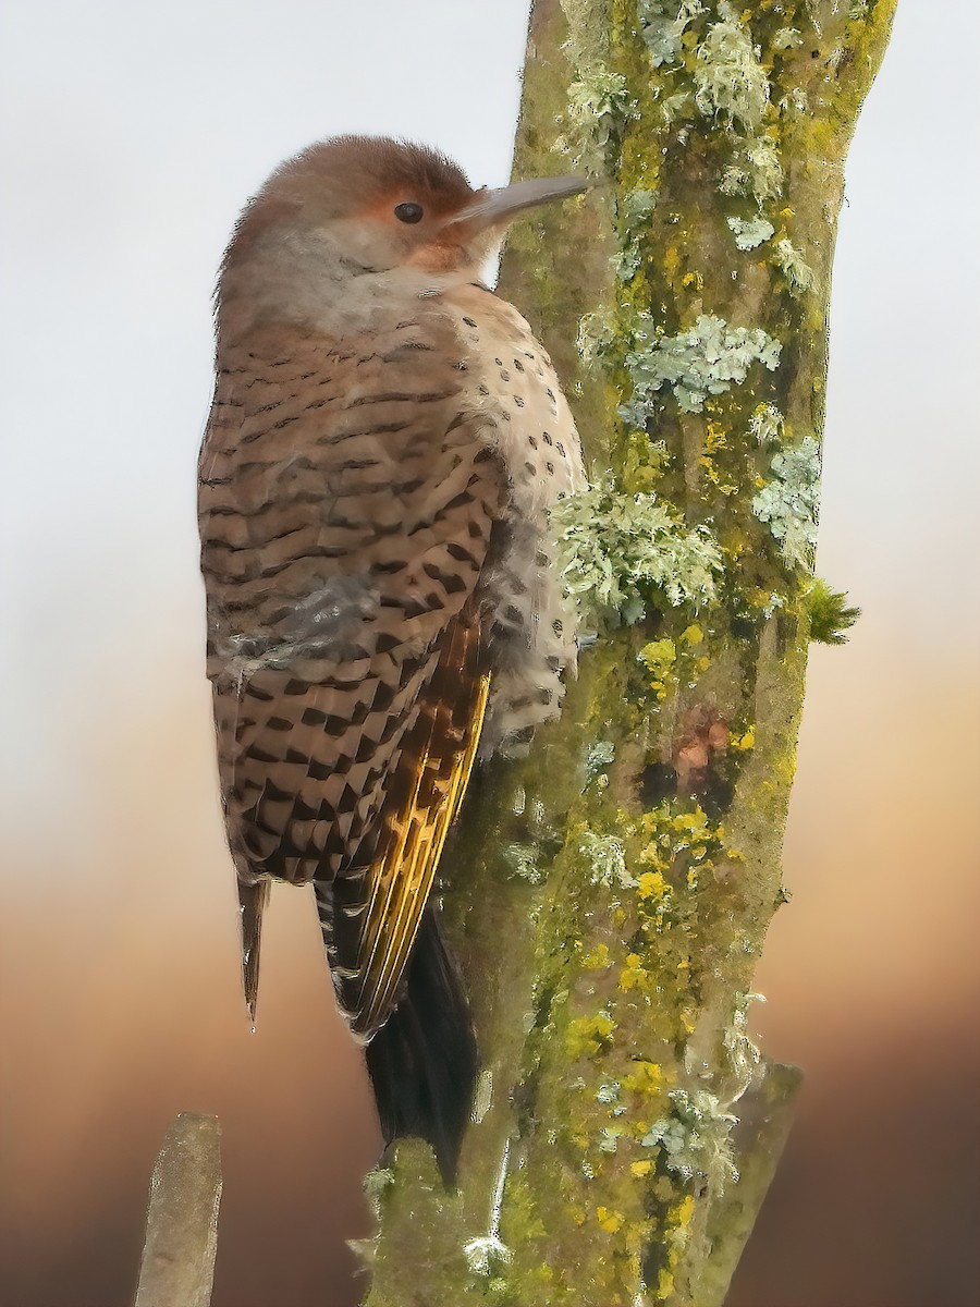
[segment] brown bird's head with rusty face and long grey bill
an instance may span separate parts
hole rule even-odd
[[[349,276],[413,268],[473,280],[523,210],[587,188],[581,178],[559,176],[477,191],[436,150],[340,136],[287,159],[250,201],[222,284],[287,250],[310,274],[319,257]]]

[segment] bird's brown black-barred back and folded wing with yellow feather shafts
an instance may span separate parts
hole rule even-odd
[[[452,345],[419,323],[344,352],[276,328],[220,358],[203,570],[252,1002],[268,876],[383,881],[365,975],[384,985],[375,1016],[393,1001],[417,925],[400,886],[425,885],[423,903],[480,731],[470,601],[503,494]],[[362,945],[338,965],[361,968]]]

